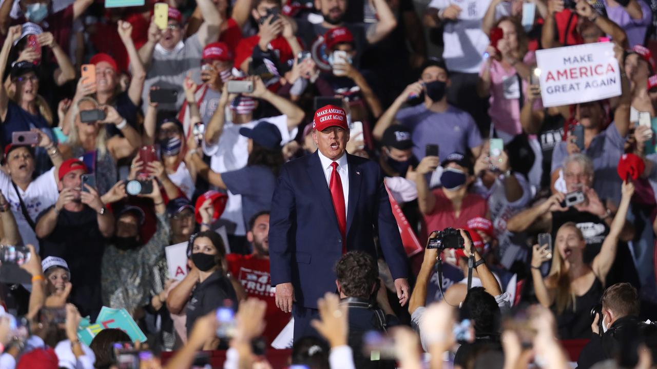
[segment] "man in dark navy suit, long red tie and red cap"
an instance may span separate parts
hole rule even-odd
[[[344,109],[315,112],[317,152],[286,163],[271,200],[269,259],[276,304],[294,317],[294,341],[318,316],[317,299],[335,291],[334,266],[346,251],[376,257],[374,237],[395,280],[399,303],[409,298],[407,257],[376,162],[347,154]],[[294,309],[292,308],[294,305]]]

